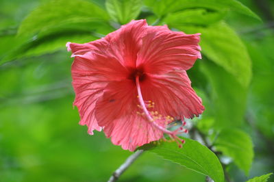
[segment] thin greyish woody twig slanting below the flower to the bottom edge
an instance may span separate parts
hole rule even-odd
[[[125,172],[125,170],[127,170],[127,168],[129,168],[130,165],[132,165],[132,163],[143,153],[143,150],[139,150],[136,151],[136,153],[130,155],[124,162],[124,164],[122,164],[118,169],[116,169],[112,176],[110,177],[110,179],[108,180],[108,182],[113,182],[113,181],[117,181],[117,179],[119,179],[119,177],[121,176],[121,174],[123,174],[123,172]]]

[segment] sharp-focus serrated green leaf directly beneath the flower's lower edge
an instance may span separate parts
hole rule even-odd
[[[175,142],[162,142],[158,145],[146,144],[140,149],[156,153],[177,164],[211,177],[215,182],[223,181],[221,163],[210,149],[195,140],[185,138],[186,144],[179,148]]]

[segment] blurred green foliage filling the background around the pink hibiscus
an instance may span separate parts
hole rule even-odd
[[[273,172],[273,12],[270,0],[1,0],[0,181],[107,181],[131,154],[77,125],[65,44],[96,40],[134,18],[201,33],[203,59],[188,75],[206,111],[187,137],[198,132],[208,148],[190,139],[183,149],[153,146],[182,166],[146,152],[120,181],[205,181],[203,174],[222,173],[219,161],[226,181]]]

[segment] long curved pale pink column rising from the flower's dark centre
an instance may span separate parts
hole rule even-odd
[[[145,113],[147,120],[151,123],[151,125],[153,125],[153,127],[160,129],[160,131],[167,133],[169,135],[174,135],[174,133],[172,131],[165,129],[164,127],[161,127],[161,126],[157,125],[157,123],[154,122],[153,118],[149,114],[149,111],[147,110],[147,107],[145,106],[144,99],[142,99],[142,92],[141,92],[141,88],[140,88],[139,76],[136,76],[135,81],[136,81],[136,87],[137,87],[137,92],[138,92],[138,99],[139,99],[140,105],[142,107],[142,110]]]

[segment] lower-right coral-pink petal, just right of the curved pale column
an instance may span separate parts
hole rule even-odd
[[[165,75],[149,75],[140,83],[143,97],[155,103],[155,111],[164,116],[193,118],[204,110],[201,99],[190,86],[185,70]]]

